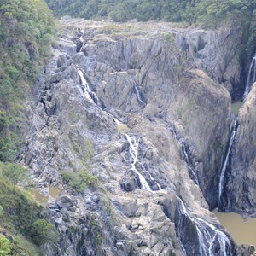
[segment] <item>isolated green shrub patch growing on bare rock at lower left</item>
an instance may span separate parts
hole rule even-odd
[[[75,191],[82,193],[87,185],[91,185],[96,187],[98,183],[97,177],[91,175],[87,171],[79,171],[79,172],[72,172],[72,171],[65,171],[62,172],[63,180],[68,183],[68,185]]]

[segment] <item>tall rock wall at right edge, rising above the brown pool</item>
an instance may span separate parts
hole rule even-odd
[[[253,84],[238,114],[239,126],[224,196],[224,211],[241,212],[244,216],[255,216],[255,95],[256,84]]]

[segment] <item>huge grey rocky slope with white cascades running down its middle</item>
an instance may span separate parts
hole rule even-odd
[[[79,53],[65,31],[27,108],[20,160],[59,232],[47,255],[249,255],[209,212],[231,130],[229,92],[195,67],[170,27],[125,35],[107,28],[84,28]],[[223,34],[209,36],[209,49]],[[83,169],[98,182],[74,193],[61,173]],[[50,197],[49,184],[61,195]]]

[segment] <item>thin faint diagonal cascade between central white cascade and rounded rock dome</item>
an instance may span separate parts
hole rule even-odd
[[[196,185],[199,186],[199,179],[198,179],[197,173],[195,172],[193,161],[191,160],[191,157],[188,154],[188,150],[189,150],[188,145],[185,143],[183,138],[180,138],[177,136],[177,133],[174,127],[171,127],[169,130],[172,132],[173,137],[175,137],[175,139],[177,139],[177,141],[181,144],[184,160],[189,166],[189,177],[194,181]]]

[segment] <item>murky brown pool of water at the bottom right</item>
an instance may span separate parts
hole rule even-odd
[[[213,212],[237,244],[256,247],[256,218],[244,220],[240,214],[234,212]]]

